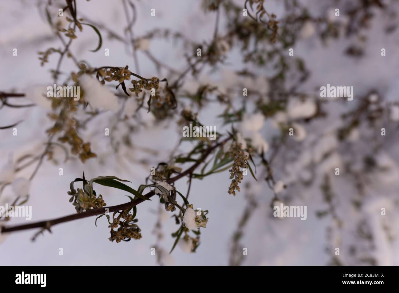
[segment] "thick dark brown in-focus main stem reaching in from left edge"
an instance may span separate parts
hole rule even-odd
[[[215,144],[215,146],[209,147],[205,151],[205,153],[203,153],[202,157],[200,159],[198,159],[198,161],[194,165],[192,165],[190,168],[188,168],[183,173],[180,173],[179,175],[176,175],[175,177],[168,179],[167,182],[168,183],[173,183],[173,182],[177,181],[178,179],[180,179],[180,178],[182,178],[182,177],[184,177],[186,175],[190,175],[203,161],[205,161],[207,156],[215,148],[221,146],[224,142],[226,142],[229,139],[231,139],[231,136],[229,136],[228,138],[226,138],[222,142],[219,142],[219,143]],[[146,193],[144,195],[144,197],[149,199],[153,195],[154,195],[154,191],[150,191],[150,192]],[[130,201],[128,203],[123,203],[121,205],[115,205],[115,206],[109,206],[109,207],[106,207],[106,208],[109,209],[108,210],[109,212],[115,212],[115,211],[118,211],[118,210],[130,209],[133,206],[136,206],[136,205],[142,203],[143,201],[144,201],[144,199],[136,198],[133,201]],[[32,223],[32,224],[17,225],[17,226],[11,226],[11,227],[3,226],[1,228],[1,232],[2,233],[7,233],[7,232],[14,232],[14,231],[28,230],[28,229],[33,229],[33,228],[43,228],[43,229],[49,230],[50,227],[52,227],[52,226],[54,226],[56,224],[61,224],[61,223],[64,223],[64,222],[69,222],[69,221],[73,221],[73,220],[78,220],[78,219],[82,219],[82,218],[96,216],[96,215],[99,215],[99,214],[104,214],[104,212],[106,211],[106,208],[96,208],[96,209],[87,210],[85,212],[81,212],[81,213],[78,213],[78,214],[70,214],[68,216],[63,216],[61,218],[55,218],[55,219],[52,219],[52,220],[45,220],[45,221],[41,221],[41,222],[35,222],[35,223]]]

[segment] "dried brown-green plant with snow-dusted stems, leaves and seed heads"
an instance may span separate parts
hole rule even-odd
[[[329,115],[330,105],[335,103],[342,106],[341,104],[346,101],[331,101],[320,98],[319,92],[309,93],[303,90],[302,85],[308,81],[310,70],[300,55],[290,55],[288,52],[293,50],[299,39],[306,39],[308,35],[317,37],[320,43],[326,46],[331,40],[346,38],[353,43],[347,42],[349,45],[344,53],[349,57],[360,59],[364,55],[362,46],[367,40],[365,32],[373,21],[371,11],[381,10],[381,13],[387,13],[388,6],[394,4],[381,4],[378,0],[356,3],[346,1],[345,5],[340,6],[341,15],[350,19],[345,23],[312,15],[301,1],[296,0],[284,1],[284,13],[278,16],[271,12],[269,4],[264,0],[202,0],[201,13],[215,18],[214,30],[204,41],[193,40],[192,36],[168,28],[136,31],[134,27],[137,21],[136,5],[139,5],[139,2],[122,0],[122,4],[127,23],[126,27],[121,28],[122,33],[109,28],[101,20],[96,20],[95,16],[81,15],[78,9],[80,4],[77,1],[65,0],[61,6],[58,2],[48,1],[38,6],[60,46],[53,45],[39,51],[40,66],[47,68],[49,64],[53,64],[52,60],[57,60],[55,68],[50,69],[51,86],[59,84],[63,87],[79,88],[80,98],[75,100],[62,94],[43,97],[51,105],[51,111],[47,114],[50,124],[45,130],[47,141],[41,146],[39,153],[17,158],[16,165],[13,165],[12,169],[18,173],[33,167],[29,178],[29,181],[32,181],[44,159],[47,158],[53,163],[59,161],[58,149],[62,149],[65,153],[63,156],[65,163],[73,164],[78,174],[83,171],[80,163],[90,163],[95,160],[103,163],[103,158],[99,155],[101,147],[96,144],[93,137],[86,134],[89,126],[105,120],[109,121],[107,123],[110,126],[107,129],[111,129],[112,132],[110,137],[112,155],[128,165],[145,166],[149,169],[150,175],[145,178],[142,185],[134,189],[123,183],[130,181],[112,175],[86,180],[83,173],[82,178],[76,178],[71,182],[70,190],[67,192],[69,202],[75,206],[76,214],[34,224],[2,225],[1,232],[39,228],[39,232],[34,236],[36,238],[62,222],[97,216],[95,220],[97,226],[97,220],[106,216],[111,234],[110,241],[115,240],[116,243],[120,243],[122,240],[130,241],[132,238],[140,240],[142,234],[137,224],[137,206],[154,197],[156,203],[153,205],[158,204],[160,208],[164,208],[177,225],[177,230],[172,233],[174,244],[170,252],[178,243],[186,245],[190,252],[196,252],[201,243],[201,232],[207,225],[211,225],[212,220],[208,223],[208,210],[195,209],[200,199],[190,198],[188,201],[192,181],[202,180],[219,172],[225,172],[227,179],[228,171],[231,180],[228,194],[235,196],[236,191],[241,191],[243,183],[248,183],[245,189],[264,183],[273,194],[265,200],[271,202],[272,208],[277,202],[292,200],[294,195],[284,195],[287,187],[308,187],[317,183],[320,186],[320,198],[327,207],[318,210],[316,215],[320,218],[330,216],[332,219],[327,233],[328,241],[332,242],[334,235],[341,235],[344,219],[337,211],[337,195],[333,192],[334,184],[338,187],[340,183],[334,182],[332,179],[334,173],[331,170],[319,171],[317,168],[328,159],[334,159],[336,154],[345,159],[341,172],[345,171],[346,176],[352,179],[351,182],[359,194],[359,197],[350,201],[349,205],[353,204],[359,212],[367,184],[374,176],[389,169],[379,164],[375,156],[397,142],[397,137],[393,136],[390,140],[381,139],[379,132],[380,129],[385,131],[387,128],[393,133],[395,127],[397,128],[395,121],[398,119],[390,117],[394,111],[399,111],[399,104],[385,100],[381,90],[372,89],[340,112],[339,119],[342,123],[338,127],[329,132],[314,134],[318,140],[309,141],[305,147],[302,142],[307,131],[313,131],[314,125],[319,125],[318,123],[321,125]],[[61,22],[53,13],[59,8],[62,8],[66,22]],[[389,18],[386,29],[388,35],[395,30],[395,22],[395,17]],[[122,64],[101,63],[99,66],[91,66],[96,57],[85,61],[75,56],[71,47],[80,40],[82,31],[86,29],[98,37],[98,42],[90,46],[93,49],[91,52],[104,49],[103,36],[107,34],[109,40],[117,42],[129,51],[131,59]],[[151,41],[174,42],[174,48],[178,47],[182,51],[181,60],[184,61],[184,68],[175,69],[166,60],[153,55],[146,45]],[[153,73],[143,74],[147,77],[141,76],[139,66],[141,59],[138,58],[137,51],[142,53],[139,55],[140,58],[146,57],[154,64]],[[237,62],[236,68],[240,69],[229,73],[226,86],[221,81],[211,82],[209,78],[200,78],[214,72],[222,72],[231,62],[229,57],[235,51],[238,52],[240,59],[234,62]],[[74,70],[64,69],[67,68],[66,62],[71,63]],[[61,81],[61,78],[65,80]],[[85,80],[92,82],[97,91],[91,91]],[[192,81],[197,82],[195,88],[190,87]],[[95,100],[96,96],[103,92],[108,95],[101,107],[95,104]],[[0,110],[35,106],[35,104],[16,102],[27,94],[13,91],[0,92]],[[126,111],[128,108],[126,105],[129,103],[133,109],[130,112]],[[201,114],[209,106],[219,110],[217,118],[221,127],[217,126],[217,138],[211,140],[207,136],[193,135],[182,137],[180,132],[184,126],[205,129],[207,118]],[[143,119],[144,115],[153,118],[154,125],[162,125],[164,128],[171,128],[172,124],[177,125],[178,142],[164,161],[155,157],[155,154],[170,149],[169,141],[164,142],[164,148],[152,149],[151,146],[140,148],[141,137],[138,133],[149,128]],[[267,141],[265,134],[261,133],[266,120],[273,124],[275,130]],[[6,125],[0,126],[0,131],[11,130],[20,123],[23,122],[7,121]],[[322,127],[324,129],[327,126]],[[364,142],[355,143],[354,133],[360,131],[364,134],[362,137]],[[293,137],[290,132],[295,133]],[[314,153],[306,153],[312,159],[303,163],[306,157],[305,159],[301,157],[301,150],[311,148],[325,138],[327,139],[323,147],[327,151],[318,154],[317,158]],[[183,148],[180,146],[184,144],[191,144],[184,148],[186,150],[190,148],[189,151],[181,151]],[[354,146],[355,144],[357,145]],[[365,150],[364,153],[358,152],[357,148],[365,144],[372,144],[372,149]],[[332,145],[334,147],[330,149]],[[125,153],[122,153],[122,150]],[[139,150],[147,156],[142,159],[130,155],[133,150]],[[76,162],[77,160],[80,162]],[[185,164],[191,165],[184,169],[187,167]],[[153,165],[156,167],[152,167]],[[300,174],[286,176],[291,180],[290,183],[280,179],[292,170]],[[98,172],[103,173],[104,170],[100,169]],[[187,192],[176,189],[174,183],[179,179],[187,180]],[[76,182],[82,182],[83,186],[75,189]],[[130,201],[108,206],[105,201],[109,202],[109,194],[97,195],[94,183],[127,192],[130,194],[128,196]],[[12,184],[13,180],[0,178],[0,200],[2,191]],[[264,189],[261,190],[263,192]],[[261,200],[250,194],[247,206],[242,208],[243,215],[232,238],[230,264],[243,263],[240,246],[245,234],[245,225],[255,207],[261,204],[259,203]],[[265,195],[262,199],[264,198]],[[22,205],[28,199],[28,194],[18,195],[13,205]],[[212,212],[212,207],[209,207],[209,210]],[[167,253],[161,249],[159,243],[163,237],[159,217],[158,209],[158,221],[154,229],[157,243],[154,248],[160,251],[157,255],[158,264],[165,264],[164,258]],[[9,220],[10,217],[2,217],[0,223]],[[358,220],[357,225],[359,238],[370,242],[367,221]],[[386,230],[389,232],[389,228]],[[367,254],[367,249],[364,251]],[[343,264],[336,256],[332,256],[331,259],[332,264]],[[353,252],[351,263],[367,262],[376,263],[373,258],[362,258]]]

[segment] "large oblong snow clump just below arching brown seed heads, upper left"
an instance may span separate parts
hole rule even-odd
[[[90,75],[79,77],[79,85],[83,89],[84,97],[94,108],[118,111],[118,98],[105,85]]]

